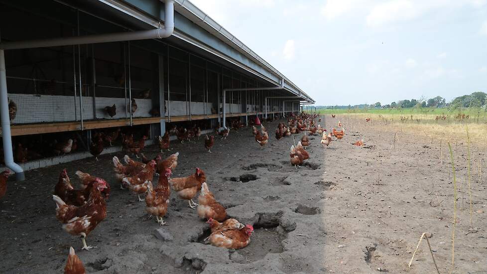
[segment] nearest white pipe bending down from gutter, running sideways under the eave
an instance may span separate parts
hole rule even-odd
[[[174,31],[174,0],[165,0],[165,21],[164,27],[150,30],[138,30],[130,32],[116,32],[104,34],[92,34],[84,36],[71,36],[48,38],[27,41],[1,42],[0,49],[22,49],[38,47],[56,47],[82,44],[97,44],[107,42],[120,42],[131,40],[146,40],[166,38],[172,35]]]

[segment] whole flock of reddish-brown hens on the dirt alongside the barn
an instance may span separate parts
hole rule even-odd
[[[337,140],[342,139],[345,135],[345,130],[337,131],[335,128],[327,134],[327,130],[320,125],[316,126],[314,119],[317,115],[301,114],[292,119],[288,119],[288,125],[279,123],[275,131],[277,140],[282,137],[289,137],[291,134],[304,135],[297,144],[293,144],[290,149],[290,162],[297,169],[303,164],[303,161],[309,158],[309,153],[306,151],[306,146],[310,144],[310,136],[315,134],[321,135],[321,144],[323,147],[330,145],[332,135]],[[253,122],[253,121],[252,121]],[[321,122],[321,119],[318,120]],[[243,128],[240,122],[232,122],[232,128],[238,130]],[[263,148],[268,142],[268,134],[263,125],[260,124],[258,118],[255,125],[260,125],[260,130],[252,126],[252,133],[255,141]],[[341,123],[338,124],[342,127]],[[215,133],[226,138],[229,136],[230,130],[228,128],[218,127]],[[93,150],[92,154],[98,156],[103,150],[103,142],[111,143],[117,139],[120,134],[120,129],[110,134],[96,134],[95,140],[90,146]],[[169,149],[169,136],[176,135],[181,142],[189,140],[190,137],[201,136],[199,127],[193,127],[190,130],[171,128],[164,136],[158,137],[158,145],[161,152]],[[250,242],[250,236],[253,232],[253,227],[249,224],[244,225],[238,220],[230,218],[227,219],[225,208],[219,204],[213,193],[209,190],[205,172],[196,168],[195,173],[182,178],[170,178],[172,172],[178,165],[179,152],[176,152],[166,159],[162,158],[162,154],[158,154],[154,159],[147,159],[141,152],[144,147],[146,137],[142,137],[138,142],[134,142],[133,136],[122,135],[122,146],[126,152],[131,152],[138,157],[141,155],[141,161],[131,159],[128,155],[123,157],[124,164],[117,156],[113,157],[115,177],[120,182],[122,189],[129,189],[133,194],[138,196],[139,201],[145,201],[146,211],[150,216],[155,216],[159,225],[167,225],[164,221],[164,216],[167,213],[169,205],[169,195],[171,189],[176,192],[181,199],[187,200],[189,207],[197,208],[199,218],[206,219],[211,228],[211,235],[205,239],[207,243],[211,243],[217,247],[240,249],[244,248]],[[293,141],[294,141],[294,137]],[[358,144],[358,143],[361,144]],[[205,148],[211,153],[211,147],[214,144],[214,136],[206,136]],[[295,143],[295,141],[294,141]],[[363,140],[358,141],[356,145],[362,145]],[[73,141],[69,141],[66,146],[71,146]],[[63,146],[59,147],[59,151],[65,152]],[[1,181],[6,181],[11,173],[4,171],[0,173],[0,197],[3,196],[5,189],[1,187]],[[68,177],[67,170],[64,169],[59,175],[59,180],[54,188],[53,200],[56,203],[56,218],[63,224],[63,229],[71,235],[80,236],[83,242],[84,250],[96,248],[88,246],[85,238],[93,231],[97,225],[103,221],[107,216],[106,200],[110,197],[111,187],[106,180],[90,175],[82,171],[75,173],[80,181],[80,188],[75,189]],[[154,174],[158,175],[157,185],[153,185]],[[200,192],[198,196],[198,203],[193,199]],[[145,199],[140,195],[145,194]],[[75,255],[74,249],[70,249],[65,273],[78,274],[84,273],[84,268]]]

